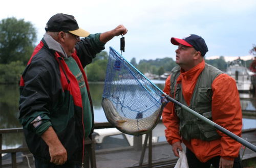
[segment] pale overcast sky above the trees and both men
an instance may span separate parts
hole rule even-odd
[[[16,17],[30,21],[37,30],[37,42],[45,25],[56,13],[75,16],[78,25],[91,34],[123,24],[127,60],[170,57],[175,49],[170,37],[202,36],[208,46],[206,59],[223,55],[244,58],[256,44],[255,0],[73,0],[1,2],[0,19]],[[120,37],[105,45],[120,51]],[[251,56],[252,57],[252,56]]]

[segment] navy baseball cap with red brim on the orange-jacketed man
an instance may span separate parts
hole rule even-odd
[[[188,47],[194,47],[197,51],[201,52],[201,55],[204,57],[206,52],[208,51],[208,47],[204,41],[204,39],[201,36],[198,35],[189,35],[187,37],[184,37],[183,39],[178,39],[172,37],[170,39],[170,42],[174,45],[185,45]]]

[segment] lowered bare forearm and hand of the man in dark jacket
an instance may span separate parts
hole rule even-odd
[[[41,138],[44,139],[49,147],[49,153],[51,157],[51,162],[57,165],[62,165],[66,163],[68,159],[67,150],[63,147],[57,134],[52,127],[49,127],[42,135]]]

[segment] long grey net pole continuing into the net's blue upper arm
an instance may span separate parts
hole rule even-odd
[[[181,104],[180,102],[178,102],[177,100],[173,99],[172,97],[170,97],[169,95],[167,95],[166,93],[164,93],[162,90],[160,90],[154,83],[152,83],[152,81],[150,79],[148,79],[144,74],[142,74],[137,68],[135,68],[129,61],[127,61],[125,58],[122,57],[122,55],[120,55],[114,48],[110,47],[111,50],[113,50],[113,52],[115,52],[116,54],[119,55],[119,57],[125,61],[127,64],[131,65],[131,67],[133,67],[139,74],[141,74],[148,82],[150,82],[154,87],[156,87],[157,90],[159,90],[169,101],[172,101],[173,103],[179,105],[182,109],[188,111],[188,113],[198,117],[199,119],[203,120],[204,122],[206,122],[207,124],[215,127],[217,130],[225,133],[226,135],[228,135],[229,137],[231,137],[232,139],[234,139],[235,141],[239,142],[240,144],[246,146],[247,148],[249,148],[250,150],[256,152],[256,146],[254,146],[253,144],[245,141],[245,139],[239,137],[238,135],[228,131],[227,129],[223,128],[222,126],[216,124],[215,122],[205,118],[204,116],[200,115],[199,113],[197,113],[196,111],[194,111],[193,109],[185,106],[184,104]]]

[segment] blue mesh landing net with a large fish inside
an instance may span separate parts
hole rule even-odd
[[[102,97],[106,119],[126,134],[151,131],[162,114],[162,91],[112,47]]]

